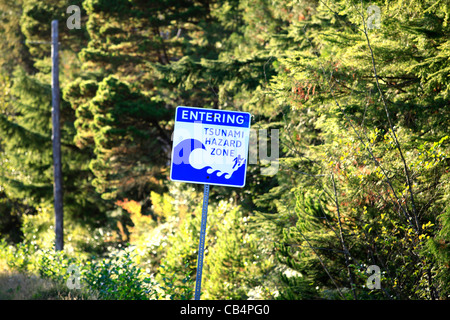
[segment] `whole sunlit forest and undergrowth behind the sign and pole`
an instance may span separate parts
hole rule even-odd
[[[0,0],[0,298],[192,299],[203,186],[169,179],[192,106],[279,148],[211,187],[202,299],[449,299],[449,23],[447,0]]]

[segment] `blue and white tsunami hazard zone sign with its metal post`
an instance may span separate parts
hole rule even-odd
[[[204,184],[195,300],[200,300],[210,185],[245,185],[251,115],[178,107],[170,165],[172,181]]]

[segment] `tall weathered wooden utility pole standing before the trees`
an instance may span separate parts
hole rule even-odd
[[[53,196],[55,207],[55,250],[64,248],[63,189],[61,168],[61,130],[59,122],[59,48],[58,20],[52,21],[52,142]]]

